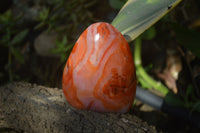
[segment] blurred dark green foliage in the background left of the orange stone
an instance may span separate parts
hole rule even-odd
[[[31,20],[34,21],[33,24],[29,25],[24,21],[26,13],[23,11],[27,7],[18,14],[13,13],[12,8],[0,14],[0,83],[20,78],[15,71],[28,60],[24,48],[26,41],[32,41],[27,40],[30,32],[56,32],[55,48],[49,52],[58,55],[60,63],[63,64],[69,56],[74,41],[78,38],[78,34],[74,33],[83,30],[82,28],[93,20],[90,7],[96,2],[96,0],[43,0],[39,2],[41,5],[37,5],[40,7],[35,7],[39,12],[36,14],[36,19]]]

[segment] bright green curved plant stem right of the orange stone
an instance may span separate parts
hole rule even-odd
[[[141,60],[141,38],[135,40],[135,51],[134,51],[134,60],[137,70],[137,75],[139,78],[143,78],[151,87],[158,90],[162,94],[166,95],[169,90],[161,82],[155,81],[151,76],[149,76],[142,66]]]

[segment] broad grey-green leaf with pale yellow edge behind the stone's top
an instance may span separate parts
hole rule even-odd
[[[134,40],[174,8],[181,0],[128,0],[112,25],[127,39]]]

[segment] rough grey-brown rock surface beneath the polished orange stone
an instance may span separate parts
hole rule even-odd
[[[34,133],[156,132],[133,114],[78,110],[65,100],[62,90],[17,82],[0,87],[0,131]]]

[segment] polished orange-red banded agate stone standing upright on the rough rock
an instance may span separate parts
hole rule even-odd
[[[75,108],[125,113],[136,92],[130,47],[108,23],[89,26],[76,42],[63,72],[63,92]]]

